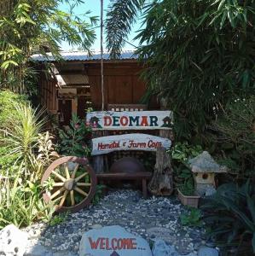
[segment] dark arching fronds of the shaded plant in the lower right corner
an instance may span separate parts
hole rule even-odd
[[[206,205],[205,221],[210,225],[209,236],[221,247],[246,247],[255,253],[255,190],[247,181],[241,187],[225,183]]]

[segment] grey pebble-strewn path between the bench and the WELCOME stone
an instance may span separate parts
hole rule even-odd
[[[108,225],[120,225],[142,236],[150,245],[155,238],[161,238],[183,255],[196,253],[206,243],[205,230],[183,227],[179,216],[186,211],[175,196],[144,200],[138,191],[112,191],[96,206],[69,214],[64,223],[54,226],[38,223],[24,229],[29,234],[29,247],[36,245],[34,253],[28,253],[28,248],[25,255],[76,256],[84,231]]]

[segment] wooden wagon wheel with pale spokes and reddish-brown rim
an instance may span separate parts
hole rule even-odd
[[[41,184],[50,188],[44,201],[55,201],[56,212],[78,212],[87,207],[96,193],[96,173],[85,158],[64,156],[44,172]]]

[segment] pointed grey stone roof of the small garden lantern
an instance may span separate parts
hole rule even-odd
[[[188,160],[188,164],[191,167],[192,172],[219,173],[228,171],[226,166],[218,165],[217,162],[213,160],[211,154],[207,151],[204,151],[193,159]]]

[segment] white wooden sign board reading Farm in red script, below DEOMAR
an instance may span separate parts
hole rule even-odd
[[[92,155],[119,150],[156,151],[158,147],[170,148],[171,140],[142,133],[96,137],[92,139]]]

